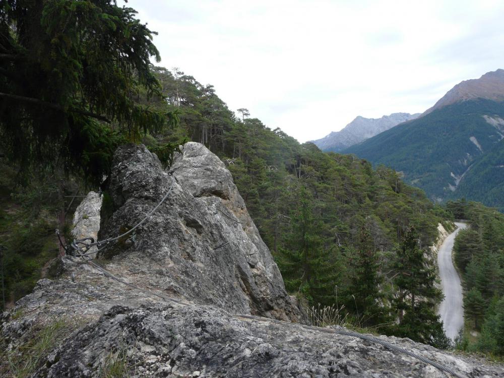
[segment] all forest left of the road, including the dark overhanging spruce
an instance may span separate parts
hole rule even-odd
[[[292,294],[341,323],[445,345],[426,253],[443,210],[394,170],[300,145],[246,108],[235,116],[211,85],[152,67],[153,34],[109,0],[0,2],[6,303],[54,273],[53,232],[69,237],[78,196],[101,185],[107,206],[117,146],[143,141],[169,166],[192,140],[233,173]]]

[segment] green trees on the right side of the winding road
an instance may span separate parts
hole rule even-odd
[[[447,209],[469,222],[454,245],[465,286],[466,332],[461,346],[504,355],[504,215],[465,200],[449,201]],[[474,339],[471,330],[480,335]]]

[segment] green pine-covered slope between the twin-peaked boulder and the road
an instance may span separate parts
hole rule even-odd
[[[289,292],[312,304],[343,305],[361,326],[443,344],[434,313],[440,295],[421,287],[434,280],[433,263],[424,256],[444,214],[421,190],[385,166],[373,170],[355,156],[299,144],[248,118],[245,108],[236,117],[212,86],[178,70],[153,71],[167,100],[150,103],[176,112],[179,126],[145,142],[151,148],[201,142],[227,164]],[[418,277],[398,282],[409,274],[404,261],[410,254],[422,256]]]

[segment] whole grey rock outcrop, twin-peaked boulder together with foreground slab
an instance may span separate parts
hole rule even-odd
[[[130,230],[171,187],[168,197],[97,260],[106,270],[67,257],[60,277],[40,280],[2,314],[0,375],[19,366],[33,377],[447,376],[369,341],[280,322],[303,315],[231,175],[202,145],[186,144],[169,172],[143,146],[120,148],[113,166],[100,239]],[[381,339],[468,377],[504,373],[408,339]]]

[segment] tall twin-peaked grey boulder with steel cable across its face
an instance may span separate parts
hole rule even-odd
[[[183,151],[173,176],[144,146],[116,152],[110,176],[114,213],[100,238],[131,229],[171,192],[147,222],[119,240],[114,262],[123,270],[138,267],[136,281],[185,299],[302,321],[230,172],[201,144],[187,143]],[[144,269],[146,262],[155,267]]]

